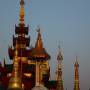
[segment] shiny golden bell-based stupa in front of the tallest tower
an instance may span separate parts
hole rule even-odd
[[[13,59],[13,72],[9,81],[8,90],[23,90],[21,79],[21,65],[19,65],[18,45],[16,45],[15,55]]]

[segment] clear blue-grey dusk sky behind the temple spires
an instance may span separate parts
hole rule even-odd
[[[15,24],[19,22],[19,1],[0,0],[0,61],[8,57]],[[60,41],[63,53],[64,89],[73,90],[74,62],[78,56],[80,88],[90,88],[90,0],[25,0],[25,23],[30,26],[35,45],[37,26],[41,27],[44,47],[51,55],[51,79],[55,79],[56,56]]]

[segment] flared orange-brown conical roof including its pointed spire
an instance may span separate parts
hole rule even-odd
[[[50,55],[47,53],[47,51],[43,47],[40,28],[38,30],[38,36],[37,36],[35,48],[32,48],[32,50],[30,52],[30,59],[33,59],[33,60],[48,60],[48,59],[50,59]]]

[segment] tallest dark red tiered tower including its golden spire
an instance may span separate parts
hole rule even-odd
[[[21,58],[22,63],[27,63],[27,58],[29,57],[30,49],[27,49],[30,44],[30,36],[28,37],[29,27],[25,26],[24,23],[24,0],[20,1],[20,14],[19,14],[19,24],[15,25],[15,35],[13,35],[13,47],[9,47],[9,57],[11,60],[14,58],[14,52],[16,48],[16,42],[18,44],[18,57]]]

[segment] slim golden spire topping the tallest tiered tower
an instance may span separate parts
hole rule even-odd
[[[20,22],[19,24],[20,25],[24,25],[24,0],[21,0],[20,1],[20,13],[19,13],[19,16],[20,16]]]

